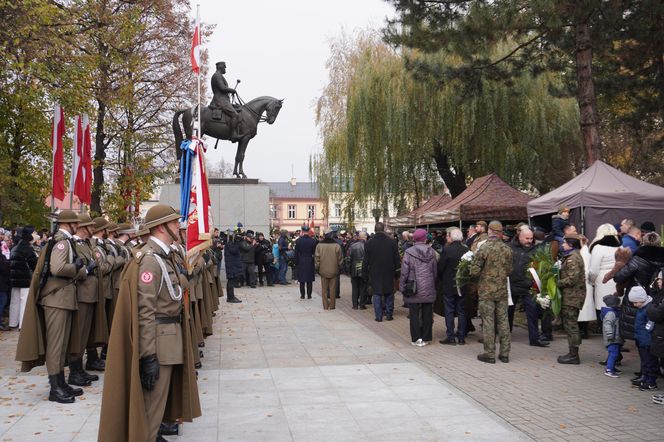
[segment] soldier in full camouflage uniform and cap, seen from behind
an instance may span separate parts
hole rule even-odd
[[[507,319],[507,277],[512,273],[512,250],[501,239],[500,221],[489,223],[488,239],[470,264],[470,275],[478,279],[479,311],[484,326],[484,353],[477,359],[496,363],[496,327],[500,336],[502,362],[509,362],[511,335]]]

